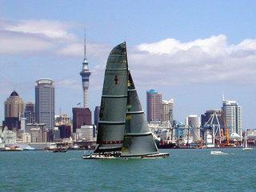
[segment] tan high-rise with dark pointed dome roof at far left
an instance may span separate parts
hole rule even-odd
[[[20,118],[25,112],[25,102],[18,96],[14,90],[10,97],[6,99],[5,103],[5,121],[3,126],[7,126],[8,130],[20,129]]]

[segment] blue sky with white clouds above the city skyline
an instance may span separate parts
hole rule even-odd
[[[34,102],[38,78],[52,78],[56,114],[82,102],[86,27],[90,109],[101,99],[106,59],[126,40],[146,110],[146,90],[174,98],[174,118],[220,109],[222,93],[255,128],[255,1],[0,1],[0,120],[12,90]]]

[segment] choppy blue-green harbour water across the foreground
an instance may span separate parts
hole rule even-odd
[[[84,160],[82,150],[0,152],[0,191],[256,191],[256,149],[222,149],[229,155],[163,151],[170,158]]]

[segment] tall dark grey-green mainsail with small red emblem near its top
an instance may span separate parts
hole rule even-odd
[[[94,152],[122,149],[126,124],[128,66],[126,42],[115,46],[106,62],[102,102]]]

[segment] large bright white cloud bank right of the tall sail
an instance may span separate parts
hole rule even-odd
[[[143,86],[256,80],[256,39],[228,45],[223,34],[191,42],[167,38],[134,46],[129,55],[132,73]]]

